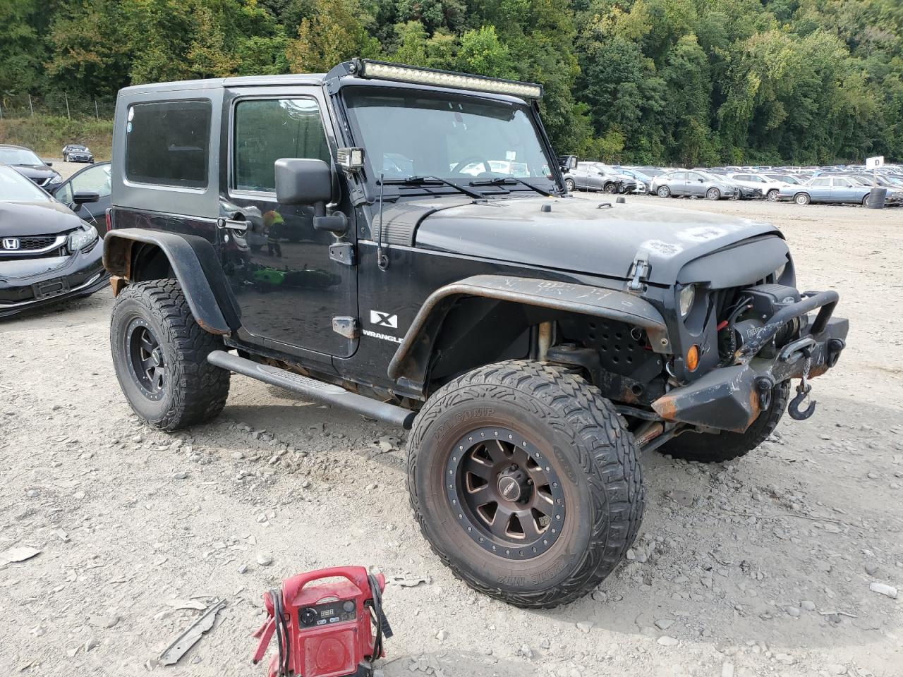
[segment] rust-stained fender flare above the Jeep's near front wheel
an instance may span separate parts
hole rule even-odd
[[[438,329],[438,325],[451,307],[451,303],[443,301],[451,301],[461,296],[511,301],[555,311],[618,320],[646,329],[656,352],[665,352],[671,345],[661,313],[656,311],[649,301],[627,292],[532,277],[473,275],[440,287],[424,301],[389,363],[389,378],[416,379],[416,375],[409,373],[415,362],[413,358],[415,348],[432,348],[434,329]],[[424,340],[427,343],[424,343]]]

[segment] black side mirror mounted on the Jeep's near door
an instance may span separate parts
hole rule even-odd
[[[280,158],[275,162],[276,199],[282,205],[313,207],[313,227],[344,233],[348,219],[342,212],[326,215],[332,199],[332,172],[322,160]]]

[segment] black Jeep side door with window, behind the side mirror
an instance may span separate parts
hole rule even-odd
[[[266,88],[248,96],[237,89],[228,95],[222,144],[228,177],[220,190],[218,229],[223,270],[241,311],[239,335],[293,354],[350,357],[358,339],[337,333],[333,320],[358,317],[358,277],[356,268],[330,257],[331,245],[353,246],[347,196],[336,199],[349,226],[335,235],[313,227],[312,207],[280,204],[275,194],[280,158],[334,166],[334,132],[321,91]]]

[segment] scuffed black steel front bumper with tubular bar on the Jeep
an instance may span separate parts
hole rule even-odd
[[[667,421],[746,431],[768,406],[774,385],[803,376],[806,354],[811,359],[810,378],[821,376],[837,363],[850,328],[848,320],[832,317],[837,300],[837,292],[813,293],[777,311],[759,336],[738,351],[735,364],[712,369],[692,384],[669,391],[652,403],[652,408]],[[781,348],[777,357],[758,357],[788,321],[815,310],[815,320],[802,329],[799,338]]]

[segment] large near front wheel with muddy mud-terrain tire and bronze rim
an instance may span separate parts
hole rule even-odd
[[[433,394],[411,431],[408,489],[452,572],[527,608],[595,588],[633,543],[644,505],[638,450],[611,403],[529,361],[476,369]]]

